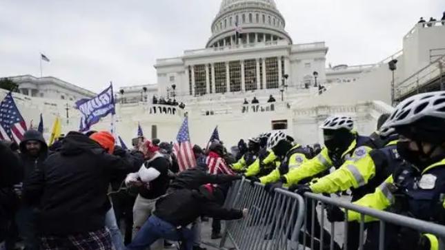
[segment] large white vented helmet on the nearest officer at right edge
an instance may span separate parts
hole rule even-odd
[[[382,127],[410,125],[425,116],[445,119],[445,91],[416,94],[395,107]]]

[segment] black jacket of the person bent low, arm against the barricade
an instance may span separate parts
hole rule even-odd
[[[198,190],[178,189],[162,196],[156,202],[155,216],[178,227],[185,227],[199,216],[219,220],[237,220],[243,217],[238,209],[224,209],[214,200],[209,200]]]

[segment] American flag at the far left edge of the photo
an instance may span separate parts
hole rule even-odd
[[[27,128],[11,92],[0,103],[0,140],[20,143]]]

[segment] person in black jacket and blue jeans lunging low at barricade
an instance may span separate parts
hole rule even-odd
[[[179,240],[182,250],[192,250],[195,238],[187,225],[199,216],[209,216],[221,220],[237,220],[247,215],[247,209],[224,209],[217,200],[223,196],[212,185],[204,185],[199,190],[178,189],[156,202],[153,215],[141,227],[135,239],[127,246],[128,250],[143,250],[159,238]]]

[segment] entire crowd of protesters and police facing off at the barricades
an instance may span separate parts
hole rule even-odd
[[[212,219],[211,238],[218,239],[221,220],[247,216],[247,209],[223,206],[233,181],[242,178],[268,192],[286,187],[301,196],[350,190],[357,205],[444,224],[445,92],[407,98],[370,135],[358,134],[348,116],[331,116],[321,129],[324,147],[300,145],[283,131],[241,139],[230,152],[219,140],[206,149],[195,145],[197,165],[185,171],[172,144],[159,139],[136,138],[132,149],[123,149],[109,132],[69,132],[48,147],[28,130],[20,145],[0,143],[0,242],[8,250],[17,242],[25,249],[142,250],[175,247],[172,242],[204,249],[202,221]],[[314,204],[307,202],[306,213],[324,212]],[[365,216],[366,241],[359,246],[362,216],[333,206],[326,213],[330,222],[348,220],[347,246],[334,241],[334,249],[379,248],[375,219]],[[313,235],[311,244],[324,249],[319,242],[332,236],[317,214],[307,218],[314,221],[303,238]],[[275,227],[264,240],[274,234]],[[395,225],[385,235],[385,249],[443,247],[436,236]]]

